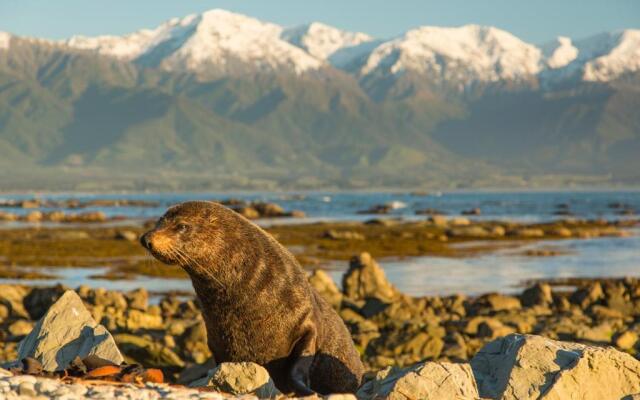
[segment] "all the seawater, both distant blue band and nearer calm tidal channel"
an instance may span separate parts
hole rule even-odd
[[[32,198],[33,195],[5,195],[0,199]],[[470,218],[500,219],[513,221],[547,221],[564,218],[559,210],[568,210],[578,218],[605,218],[609,220],[636,218],[619,215],[620,209],[640,212],[638,191],[565,191],[565,192],[455,192],[455,193],[352,193],[352,192],[305,192],[305,193],[167,193],[167,194],[41,194],[43,199],[79,200],[91,199],[136,199],[158,202],[158,207],[109,207],[67,210],[82,212],[99,210],[109,216],[122,215],[134,219],[148,219],[162,215],[171,204],[186,200],[223,200],[240,198],[248,201],[269,201],[282,205],[287,210],[302,210],[306,219],[316,220],[363,220],[371,215],[358,211],[378,204],[393,203],[390,217],[404,219],[424,218],[416,216],[416,210],[436,209],[448,215],[460,215],[463,211],[480,208],[479,216]],[[4,209],[24,213],[31,210]],[[47,210],[43,210],[47,211]],[[261,221],[263,224],[274,221]],[[284,220],[280,222],[291,222]],[[524,256],[522,252],[531,247],[553,247],[562,251],[552,257]],[[568,277],[640,277],[640,236],[627,238],[598,238],[589,240],[541,241],[516,248],[507,248],[490,254],[470,258],[416,257],[378,260],[387,277],[400,290],[412,295],[446,295],[464,293],[469,295],[486,292],[515,292],[522,284],[533,279]],[[347,268],[346,262],[331,265],[330,274],[340,282]],[[56,272],[56,271],[52,271]],[[145,286],[152,291],[190,290],[189,281],[139,278],[128,282],[109,282],[91,279],[95,270],[60,272],[60,281],[71,287],[89,284],[96,287],[134,288]],[[7,281],[10,282],[10,281]],[[25,283],[23,281],[23,283]],[[27,282],[28,283],[28,282]],[[33,282],[50,284],[51,281]]]

